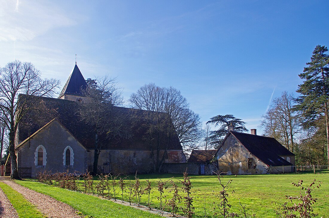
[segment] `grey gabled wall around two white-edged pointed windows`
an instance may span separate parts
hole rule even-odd
[[[44,165],[37,166],[37,148],[43,146]],[[64,165],[64,149],[70,146],[72,149],[72,164]],[[85,172],[85,151],[86,149],[56,120],[44,127],[31,139],[25,141],[16,149],[18,168],[31,167],[32,177],[38,171],[65,172],[75,171]]]

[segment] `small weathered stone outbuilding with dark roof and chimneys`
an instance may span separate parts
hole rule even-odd
[[[218,171],[227,175],[295,172],[295,155],[275,138],[231,129],[215,152]]]

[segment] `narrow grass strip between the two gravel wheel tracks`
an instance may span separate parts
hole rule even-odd
[[[0,188],[7,195],[10,203],[12,203],[13,207],[16,209],[19,217],[24,218],[43,218],[45,216],[40,213],[34,205],[28,202],[22,194],[15,191],[9,185],[0,182]]]

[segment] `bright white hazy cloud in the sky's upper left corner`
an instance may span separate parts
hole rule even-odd
[[[75,24],[46,1],[0,1],[0,41],[29,41],[48,30]]]

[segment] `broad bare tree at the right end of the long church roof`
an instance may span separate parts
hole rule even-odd
[[[159,171],[164,155],[160,159],[161,134],[177,133],[184,151],[192,150],[202,137],[201,122],[198,114],[189,109],[190,105],[181,92],[173,87],[159,87],[153,83],[141,86],[129,99],[133,108],[147,110],[148,119],[152,120],[149,133],[157,137],[158,145],[155,168]],[[172,125],[171,125],[172,123]],[[164,153],[166,147],[163,148]]]

